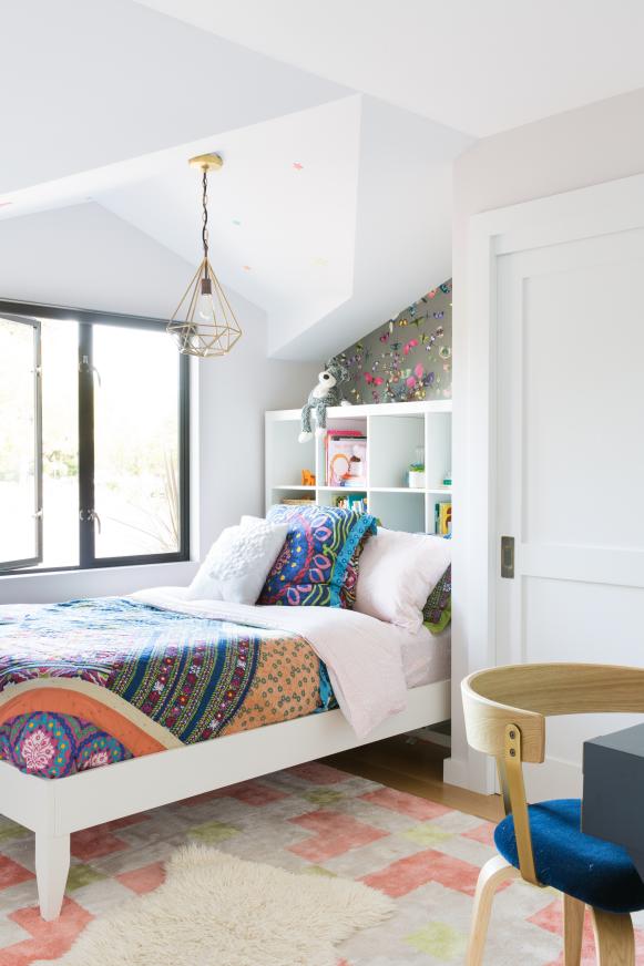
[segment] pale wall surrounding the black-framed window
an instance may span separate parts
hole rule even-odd
[[[132,312],[172,312],[194,266],[95,204],[0,224],[0,299]],[[297,407],[319,367],[266,358],[266,316],[228,292],[244,331],[223,359],[193,366],[192,556],[264,500],[264,410]],[[0,577],[0,603],[125,594],[187,583],[195,564]]]

